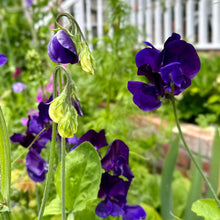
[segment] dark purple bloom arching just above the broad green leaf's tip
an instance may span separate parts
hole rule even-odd
[[[102,129],[99,132],[96,132],[94,130],[87,131],[79,140],[76,142],[76,145],[71,149],[75,149],[83,142],[90,142],[96,149],[100,149],[104,146],[108,145],[108,142],[105,138],[105,130]]]

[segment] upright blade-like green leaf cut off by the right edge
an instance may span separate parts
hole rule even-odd
[[[212,157],[210,162],[210,175],[209,175],[209,181],[216,193],[218,190],[219,175],[220,175],[219,155],[220,155],[220,136],[219,136],[219,131],[216,129],[215,137],[212,145]],[[206,197],[213,198],[213,195],[209,188],[207,189]]]

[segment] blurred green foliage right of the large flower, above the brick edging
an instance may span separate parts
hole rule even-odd
[[[220,119],[220,56],[200,54],[201,70],[178,102],[184,121],[207,127]],[[192,101],[193,100],[193,101]]]

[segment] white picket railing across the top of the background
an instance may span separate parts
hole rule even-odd
[[[65,0],[61,7],[74,11],[89,39],[101,38],[107,1]],[[139,42],[149,41],[160,48],[172,32],[177,32],[197,49],[220,50],[220,0],[124,1],[131,6],[130,24],[140,30]]]

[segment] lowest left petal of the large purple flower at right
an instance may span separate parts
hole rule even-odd
[[[152,111],[161,106],[158,90],[155,86],[145,83],[129,81],[128,90],[134,95],[134,103],[143,111]]]

